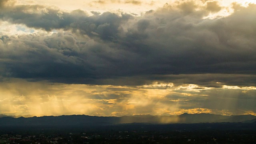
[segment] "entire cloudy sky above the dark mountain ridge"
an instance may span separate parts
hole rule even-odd
[[[0,0],[0,114],[256,116],[255,0]]]

